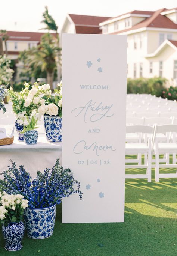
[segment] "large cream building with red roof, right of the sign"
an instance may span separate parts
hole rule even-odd
[[[99,24],[103,34],[126,34],[127,77],[164,77],[177,86],[177,8],[132,11]]]

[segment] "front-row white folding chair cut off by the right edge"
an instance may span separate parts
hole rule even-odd
[[[170,142],[170,139],[168,142],[159,142],[158,139],[156,139],[156,134],[158,133],[167,133],[167,136],[170,137],[170,134],[172,134],[171,139],[172,142]],[[177,178],[177,173],[168,173],[168,174],[162,174],[159,173],[159,168],[177,168],[176,164],[176,153],[177,153],[177,143],[176,143],[176,133],[177,133],[177,125],[171,124],[171,125],[155,125],[155,131],[153,134],[153,140],[152,140],[152,148],[153,152],[155,152],[155,181],[159,182],[159,178]],[[161,159],[159,159],[160,154],[173,154],[173,164],[159,164],[159,162],[163,162]]]

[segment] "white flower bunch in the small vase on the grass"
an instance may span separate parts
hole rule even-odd
[[[21,194],[6,194],[0,192],[0,220],[7,226],[8,223],[18,223],[23,219],[24,209],[28,207],[28,200]]]

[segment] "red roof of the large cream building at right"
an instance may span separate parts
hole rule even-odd
[[[133,27],[130,27],[128,29],[124,29],[118,32],[114,32],[112,34],[118,34],[127,32],[129,30],[135,30],[140,29],[143,27],[157,27],[157,28],[164,28],[164,29],[177,29],[177,24],[175,24],[173,21],[171,21],[169,18],[167,18],[164,15],[161,15],[161,12],[167,10],[166,8],[157,10],[153,12],[152,16],[149,18],[146,18],[145,20],[141,21],[140,23],[134,25]]]

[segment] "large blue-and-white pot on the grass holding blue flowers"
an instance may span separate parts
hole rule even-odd
[[[56,204],[47,208],[25,208],[24,222],[27,235],[33,239],[48,238],[53,234]]]

